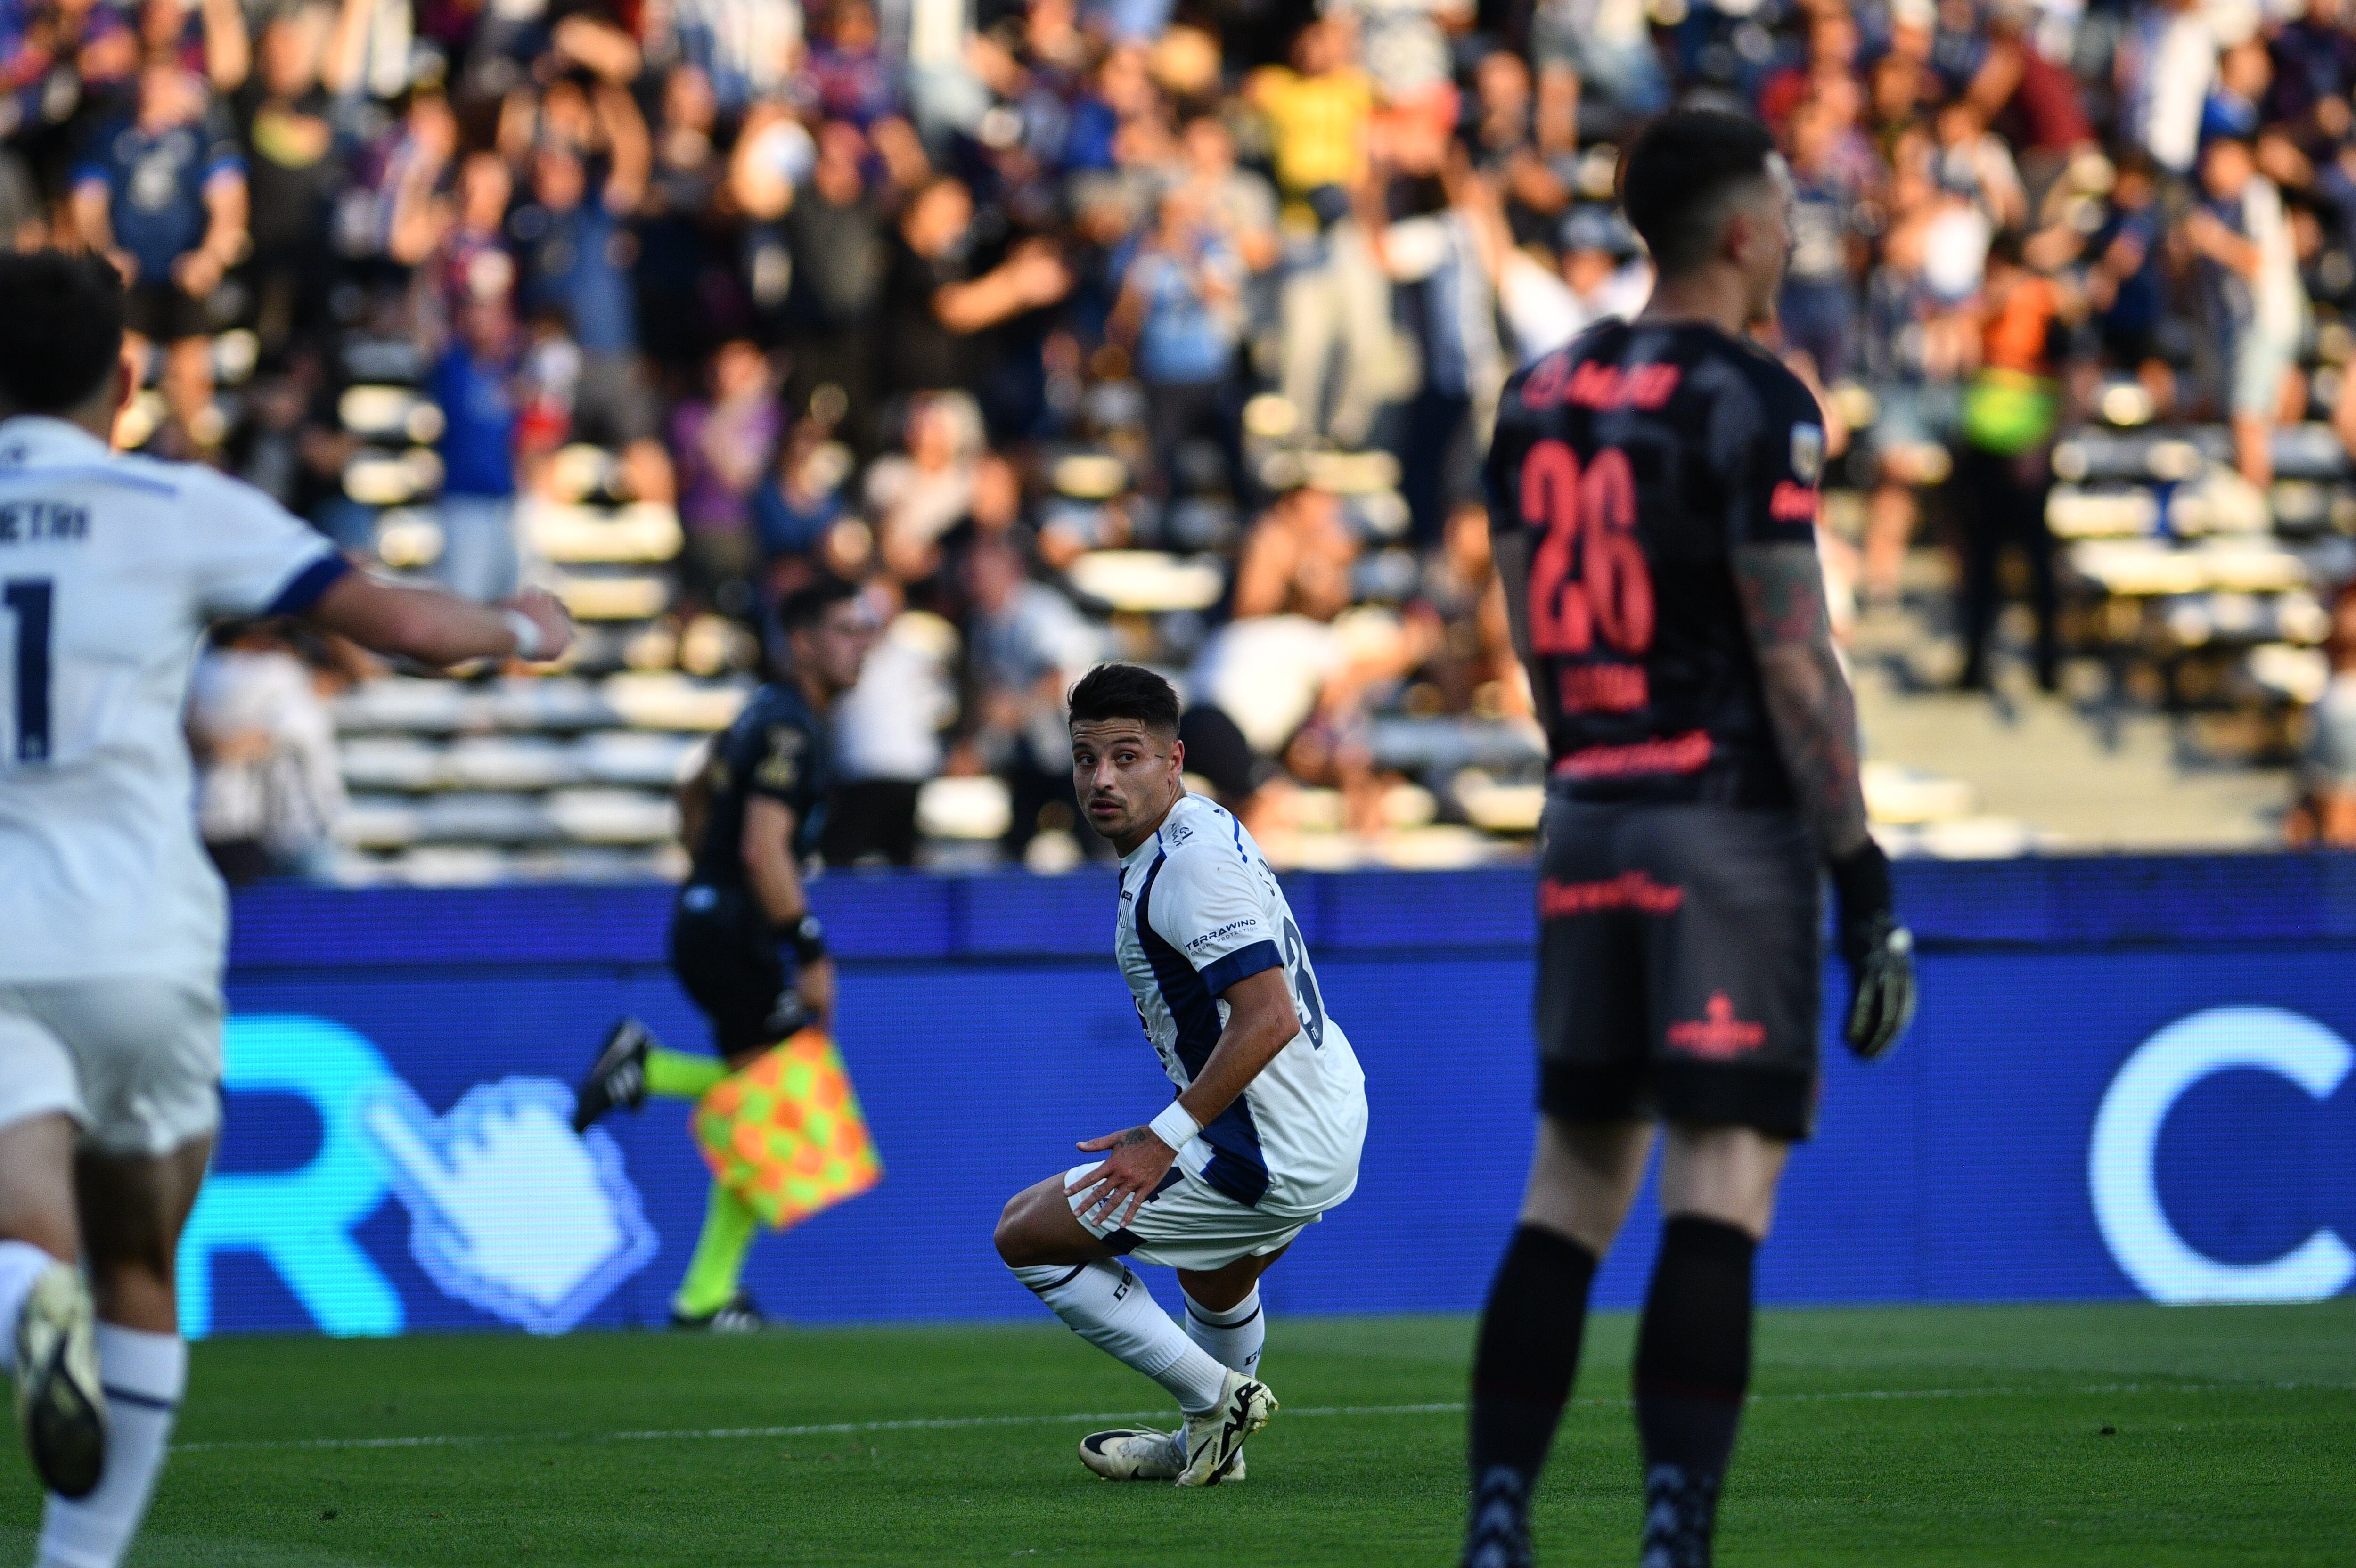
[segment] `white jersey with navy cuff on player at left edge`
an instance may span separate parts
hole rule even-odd
[[[219,977],[229,899],[181,732],[198,638],[344,570],[252,485],[0,424],[0,984]]]

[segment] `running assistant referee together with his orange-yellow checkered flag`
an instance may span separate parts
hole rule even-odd
[[[714,1182],[671,1297],[674,1328],[761,1328],[737,1283],[759,1224],[782,1229],[881,1175],[834,1045],[815,1034],[834,1012],[834,963],[801,885],[827,831],[829,716],[858,685],[879,626],[858,589],[825,577],[777,605],[777,631],[787,678],[754,692],[679,800],[695,866],[671,911],[671,970],[712,1019],[719,1055],[667,1050],[627,1017],[605,1036],[573,1114],[587,1130],[648,1095],[700,1102],[697,1142]],[[839,1121],[834,1135],[806,1125],[813,1102]],[[773,1107],[789,1107],[792,1130],[770,1123]],[[740,1154],[740,1125],[754,1132],[752,1158]],[[794,1156],[810,1168],[792,1170]]]

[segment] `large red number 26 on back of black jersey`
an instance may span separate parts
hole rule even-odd
[[[1581,473],[1569,443],[1534,445],[1522,459],[1522,523],[1538,532],[1529,563],[1531,652],[1583,655],[1597,636],[1628,655],[1652,647],[1652,567],[1635,539],[1635,469],[1626,452],[1604,447]]]

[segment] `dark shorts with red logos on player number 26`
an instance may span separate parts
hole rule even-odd
[[[1548,800],[1538,1109],[1802,1140],[1824,906],[1798,812]]]

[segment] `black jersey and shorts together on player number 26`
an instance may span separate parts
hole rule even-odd
[[[1538,1102],[1805,1137],[1816,850],[1734,549],[1814,546],[1824,414],[1758,346],[1604,323],[1505,384],[1491,530],[1527,537],[1548,732]]]

